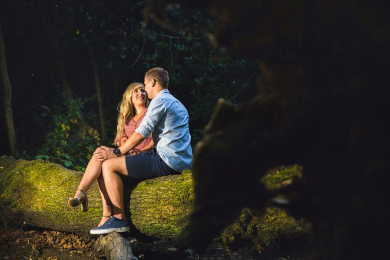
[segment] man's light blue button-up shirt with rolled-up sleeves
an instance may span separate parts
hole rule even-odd
[[[188,112],[168,89],[161,90],[149,104],[148,111],[136,132],[147,138],[152,133],[154,147],[172,169],[191,169],[191,136]]]

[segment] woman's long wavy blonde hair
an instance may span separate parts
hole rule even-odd
[[[137,114],[136,107],[133,104],[132,95],[133,91],[137,88],[143,87],[144,84],[140,82],[134,82],[127,86],[126,90],[124,90],[122,101],[119,102],[116,110],[118,110],[118,124],[116,125],[116,136],[113,142],[113,145],[116,145],[116,141],[119,140],[124,131],[124,124],[127,120],[132,118]],[[146,98],[145,107],[149,106],[148,94]]]

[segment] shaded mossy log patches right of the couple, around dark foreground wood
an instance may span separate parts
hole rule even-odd
[[[299,174],[301,167],[280,167],[272,169],[263,178],[267,189],[273,189]],[[308,229],[303,220],[297,220],[278,207],[267,207],[265,212],[244,208],[232,224],[221,233],[225,244],[239,247],[251,241],[258,252],[276,246],[291,246],[291,242],[305,242]],[[296,244],[294,243],[294,244]]]

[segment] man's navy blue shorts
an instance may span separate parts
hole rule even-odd
[[[129,177],[135,179],[152,179],[160,176],[181,174],[169,167],[163,159],[160,158],[156,149],[151,152],[142,152],[137,155],[126,155],[127,173]]]

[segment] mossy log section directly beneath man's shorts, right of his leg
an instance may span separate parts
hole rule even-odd
[[[193,200],[191,171],[146,180],[131,194],[131,219],[144,234],[173,238],[186,224]]]

